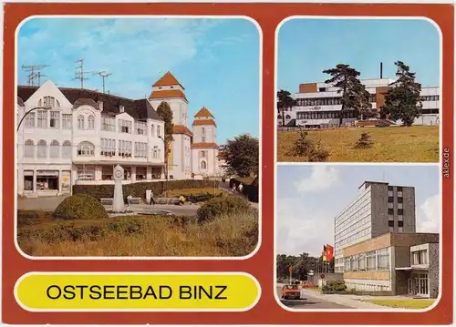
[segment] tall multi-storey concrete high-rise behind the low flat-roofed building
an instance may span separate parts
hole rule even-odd
[[[344,271],[343,250],[348,246],[388,232],[415,231],[415,189],[365,181],[334,220],[335,272]]]

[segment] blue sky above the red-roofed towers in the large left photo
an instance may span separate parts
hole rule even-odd
[[[85,70],[105,70],[111,94],[149,97],[168,70],[185,87],[189,115],[208,107],[218,141],[259,130],[259,33],[244,19],[35,18],[18,33],[18,83],[25,65],[50,65],[42,73],[59,87],[79,87],[76,60]],[[102,90],[101,77],[84,87]],[[189,121],[192,124],[192,121]]]

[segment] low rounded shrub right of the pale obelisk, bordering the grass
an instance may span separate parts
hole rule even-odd
[[[253,208],[250,203],[237,196],[210,199],[204,203],[197,211],[196,217],[199,223],[215,220],[221,216],[235,216],[245,214]]]

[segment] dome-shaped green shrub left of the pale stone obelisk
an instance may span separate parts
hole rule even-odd
[[[66,220],[108,218],[108,212],[103,205],[87,194],[76,194],[64,199],[52,215]]]

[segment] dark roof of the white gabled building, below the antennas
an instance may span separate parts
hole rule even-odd
[[[39,87],[18,86],[17,102],[20,103],[19,99],[26,102],[38,88]],[[162,120],[146,98],[132,100],[130,98],[109,95],[85,88],[58,87],[58,89],[67,97],[67,100],[75,108],[83,105],[91,107],[97,105],[95,108],[98,109],[98,102],[103,102],[103,114],[119,114],[120,106],[122,106],[124,107],[125,112],[132,118]]]

